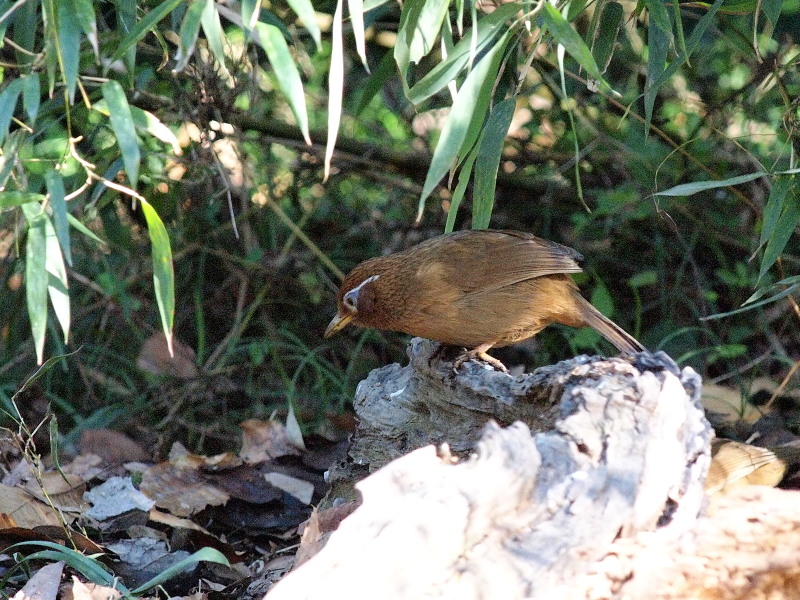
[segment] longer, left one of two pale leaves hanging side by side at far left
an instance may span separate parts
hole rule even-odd
[[[44,359],[44,335],[47,329],[47,216],[40,204],[23,204],[22,211],[28,221],[28,240],[25,243],[25,297],[28,320],[31,324],[36,364]]]

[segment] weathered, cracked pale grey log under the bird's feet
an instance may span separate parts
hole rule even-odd
[[[713,432],[690,368],[640,354],[454,374],[437,348],[415,339],[408,366],[361,382],[334,476],[374,471],[363,504],[267,600],[797,597],[756,593],[798,579],[796,503],[777,532],[738,496],[701,517]]]

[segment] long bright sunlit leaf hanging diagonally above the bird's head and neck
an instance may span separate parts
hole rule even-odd
[[[472,68],[472,72],[467,75],[461,89],[458,90],[458,95],[453,101],[450,115],[442,129],[441,136],[439,136],[439,142],[436,144],[436,150],[431,159],[431,166],[425,177],[417,208],[417,220],[422,216],[425,200],[450,170],[456,157],[471,148],[469,144],[465,147],[464,142],[467,139],[470,125],[473,123],[473,116],[479,118],[480,121],[485,118],[489,104],[489,94],[486,93],[485,88],[494,83],[503,51],[510,37],[511,31],[509,30]]]

